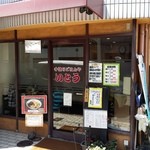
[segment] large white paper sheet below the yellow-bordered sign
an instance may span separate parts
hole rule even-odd
[[[107,129],[107,111],[84,109],[84,127]]]

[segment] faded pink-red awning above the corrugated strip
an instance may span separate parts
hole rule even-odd
[[[103,0],[8,0],[7,3],[0,4],[0,17],[73,7],[88,8],[103,17]]]

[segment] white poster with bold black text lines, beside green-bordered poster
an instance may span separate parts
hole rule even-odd
[[[102,63],[89,63],[89,82],[102,83]]]

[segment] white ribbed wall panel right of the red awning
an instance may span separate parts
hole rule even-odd
[[[149,18],[150,0],[104,0],[104,19]]]

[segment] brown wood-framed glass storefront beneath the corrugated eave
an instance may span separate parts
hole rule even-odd
[[[115,137],[119,149],[127,140],[133,149],[139,142],[134,118],[135,83],[140,84],[136,54],[144,56],[149,77],[149,23],[148,19],[98,19],[2,29],[0,128],[26,133],[36,130],[41,136],[74,140],[73,130],[85,124],[85,110],[102,110],[108,102],[108,139]],[[25,51],[27,40],[40,41],[41,51]],[[95,65],[99,70],[92,71]],[[107,84],[109,77],[104,78],[101,67],[116,68],[118,82]],[[102,107],[89,106],[86,92],[90,88],[107,89]],[[47,95],[43,127],[25,125],[22,95]],[[69,104],[64,104],[65,96]],[[100,129],[92,132],[98,136],[106,133]],[[79,142],[84,138],[76,136]]]

